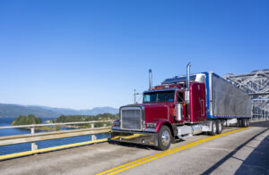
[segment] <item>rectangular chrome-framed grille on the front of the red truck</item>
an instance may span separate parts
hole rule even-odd
[[[142,110],[140,107],[121,108],[121,129],[142,129]]]

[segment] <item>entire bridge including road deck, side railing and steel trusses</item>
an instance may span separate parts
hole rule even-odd
[[[96,135],[110,127],[95,128],[100,121],[6,126],[28,128],[30,134],[0,137],[1,146],[31,143],[30,151],[0,155],[0,174],[269,174],[269,71],[225,75],[231,84],[252,96],[251,127],[229,127],[221,135],[198,135],[177,140],[168,151],[151,146],[118,144]],[[136,102],[134,92],[134,103]],[[111,123],[112,121],[101,121]],[[91,129],[36,133],[37,127],[91,124]],[[89,140],[41,148],[36,142],[88,136]]]

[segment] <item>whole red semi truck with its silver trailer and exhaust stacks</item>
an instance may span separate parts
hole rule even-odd
[[[143,104],[120,107],[111,139],[156,146],[167,150],[175,139],[195,134],[220,134],[222,126],[247,127],[252,115],[251,99],[238,87],[213,72],[165,79],[143,92]]]

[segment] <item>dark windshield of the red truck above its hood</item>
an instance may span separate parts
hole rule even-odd
[[[145,93],[143,94],[143,103],[173,102],[174,97],[174,91]]]

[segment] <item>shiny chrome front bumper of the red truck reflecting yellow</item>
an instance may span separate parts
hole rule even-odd
[[[112,129],[111,140],[146,146],[158,146],[158,133]]]

